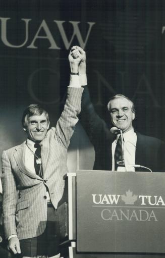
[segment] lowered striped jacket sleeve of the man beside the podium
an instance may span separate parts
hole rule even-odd
[[[2,155],[2,186],[3,186],[3,218],[5,237],[8,238],[16,232],[16,205],[18,201],[15,178],[7,152]]]

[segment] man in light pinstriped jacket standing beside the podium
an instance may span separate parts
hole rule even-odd
[[[56,128],[49,129],[45,110],[30,105],[22,119],[27,140],[3,152],[5,235],[9,249],[21,257],[60,257],[56,210],[64,193],[63,176],[68,172],[67,148],[80,113],[83,89],[78,66],[81,58],[79,53],[74,59],[69,55],[70,86]],[[37,149],[41,158],[36,154]],[[39,165],[40,174],[34,162]]]

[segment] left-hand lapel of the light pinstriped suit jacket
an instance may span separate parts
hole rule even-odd
[[[17,165],[20,171],[26,174],[27,176],[30,176],[34,179],[41,179],[39,176],[37,176],[36,174],[34,174],[32,171],[30,171],[28,168],[25,167],[25,147],[26,147],[26,141],[24,141],[21,145],[15,148],[15,152],[13,155],[17,162]]]

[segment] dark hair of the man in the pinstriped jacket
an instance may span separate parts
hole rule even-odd
[[[32,116],[41,116],[42,114],[45,114],[47,122],[49,122],[48,113],[42,109],[38,104],[31,104],[29,105],[22,115],[22,126],[23,128],[27,127],[28,118]]]

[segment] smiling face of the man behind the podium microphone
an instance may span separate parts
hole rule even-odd
[[[111,100],[110,114],[113,125],[123,132],[128,132],[132,128],[135,113],[132,112],[131,102],[127,98],[119,97]]]

